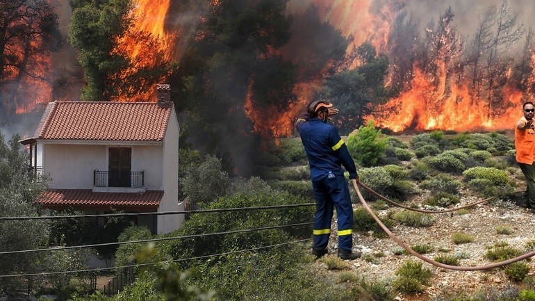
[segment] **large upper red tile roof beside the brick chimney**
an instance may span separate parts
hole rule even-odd
[[[171,112],[156,102],[54,101],[30,139],[161,141]]]

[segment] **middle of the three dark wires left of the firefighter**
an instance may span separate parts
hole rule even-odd
[[[149,243],[149,242],[153,242],[153,241],[171,241],[171,240],[174,240],[174,239],[181,239],[181,238],[194,238],[194,237],[213,236],[213,235],[222,235],[222,234],[237,234],[237,233],[261,231],[261,230],[268,230],[268,229],[280,229],[280,228],[284,228],[284,227],[312,225],[312,224],[313,224],[313,222],[302,222],[302,223],[290,224],[290,225],[260,227],[260,228],[242,229],[242,230],[235,230],[235,231],[215,232],[215,233],[205,233],[205,234],[192,234],[192,235],[186,235],[186,236],[151,238],[151,239],[142,239],[142,240],[138,240],[138,241],[122,241],[122,242],[115,242],[115,243],[97,243],[97,244],[93,244],[93,245],[71,245],[71,246],[67,246],[67,247],[49,247],[49,248],[46,248],[46,249],[6,251],[6,252],[0,252],[0,255],[17,254],[17,253],[42,252],[42,251],[69,250],[69,249],[78,249],[78,248],[83,248],[83,247],[103,247],[105,245],[126,245],[126,244],[129,244],[129,243]]]

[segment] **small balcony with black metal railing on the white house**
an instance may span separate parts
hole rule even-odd
[[[145,192],[145,171],[94,170],[93,192],[143,193]]]

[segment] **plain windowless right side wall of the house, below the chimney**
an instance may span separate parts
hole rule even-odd
[[[163,140],[163,188],[165,193],[158,211],[183,211],[179,206],[179,122],[174,108]],[[183,214],[158,215],[158,234],[169,233],[181,227]]]

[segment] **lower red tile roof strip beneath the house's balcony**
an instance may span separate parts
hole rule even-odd
[[[147,190],[145,193],[94,193],[90,189],[61,189],[41,193],[38,203],[49,209],[63,207],[87,209],[156,209],[163,191]]]

